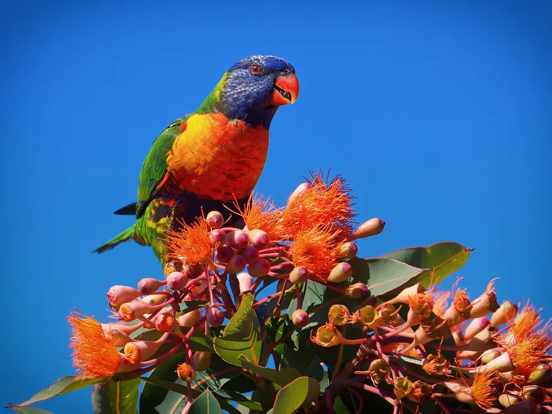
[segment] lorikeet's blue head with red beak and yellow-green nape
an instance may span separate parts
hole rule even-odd
[[[290,63],[274,56],[250,56],[224,74],[199,110],[268,129],[276,110],[294,103],[298,94],[299,81]]]

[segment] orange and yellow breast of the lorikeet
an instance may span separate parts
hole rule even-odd
[[[229,201],[253,190],[267,153],[268,130],[221,114],[193,115],[167,154],[168,171],[182,190]]]

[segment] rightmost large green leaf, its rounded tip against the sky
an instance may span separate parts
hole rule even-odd
[[[384,257],[390,257],[417,268],[429,269],[417,279],[417,282],[427,288],[442,282],[445,277],[464,266],[470,257],[471,250],[473,249],[454,242],[442,242],[429,247],[395,250]]]

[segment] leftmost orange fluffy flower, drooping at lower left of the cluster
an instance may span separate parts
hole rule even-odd
[[[75,313],[71,313],[67,320],[72,333],[73,366],[79,373],[88,378],[112,377],[117,373],[121,357],[117,348],[109,343],[110,335],[103,331],[101,324],[96,319]]]

